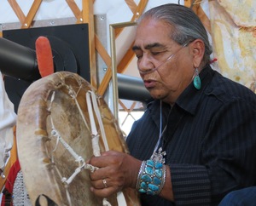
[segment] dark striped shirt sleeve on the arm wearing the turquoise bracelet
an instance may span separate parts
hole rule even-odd
[[[255,123],[249,101],[219,108],[202,140],[201,165],[169,165],[176,205],[217,205],[228,192],[255,184]]]

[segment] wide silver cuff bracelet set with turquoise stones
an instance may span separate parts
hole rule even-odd
[[[148,195],[158,195],[166,182],[166,165],[151,159],[143,161],[137,175],[137,190]]]

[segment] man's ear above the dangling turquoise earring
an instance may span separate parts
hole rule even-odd
[[[201,39],[195,39],[194,42],[189,44],[189,47],[193,54],[193,65],[198,68],[205,54],[205,43]]]

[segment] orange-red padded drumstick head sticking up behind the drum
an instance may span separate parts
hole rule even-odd
[[[41,77],[46,77],[54,73],[54,62],[49,39],[38,37],[36,40],[36,54],[38,60],[38,70]]]

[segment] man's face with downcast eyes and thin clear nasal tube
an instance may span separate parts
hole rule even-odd
[[[137,27],[133,50],[151,96],[173,104],[191,83],[195,68],[189,46],[175,43],[171,32],[172,27],[163,21],[144,19]]]

